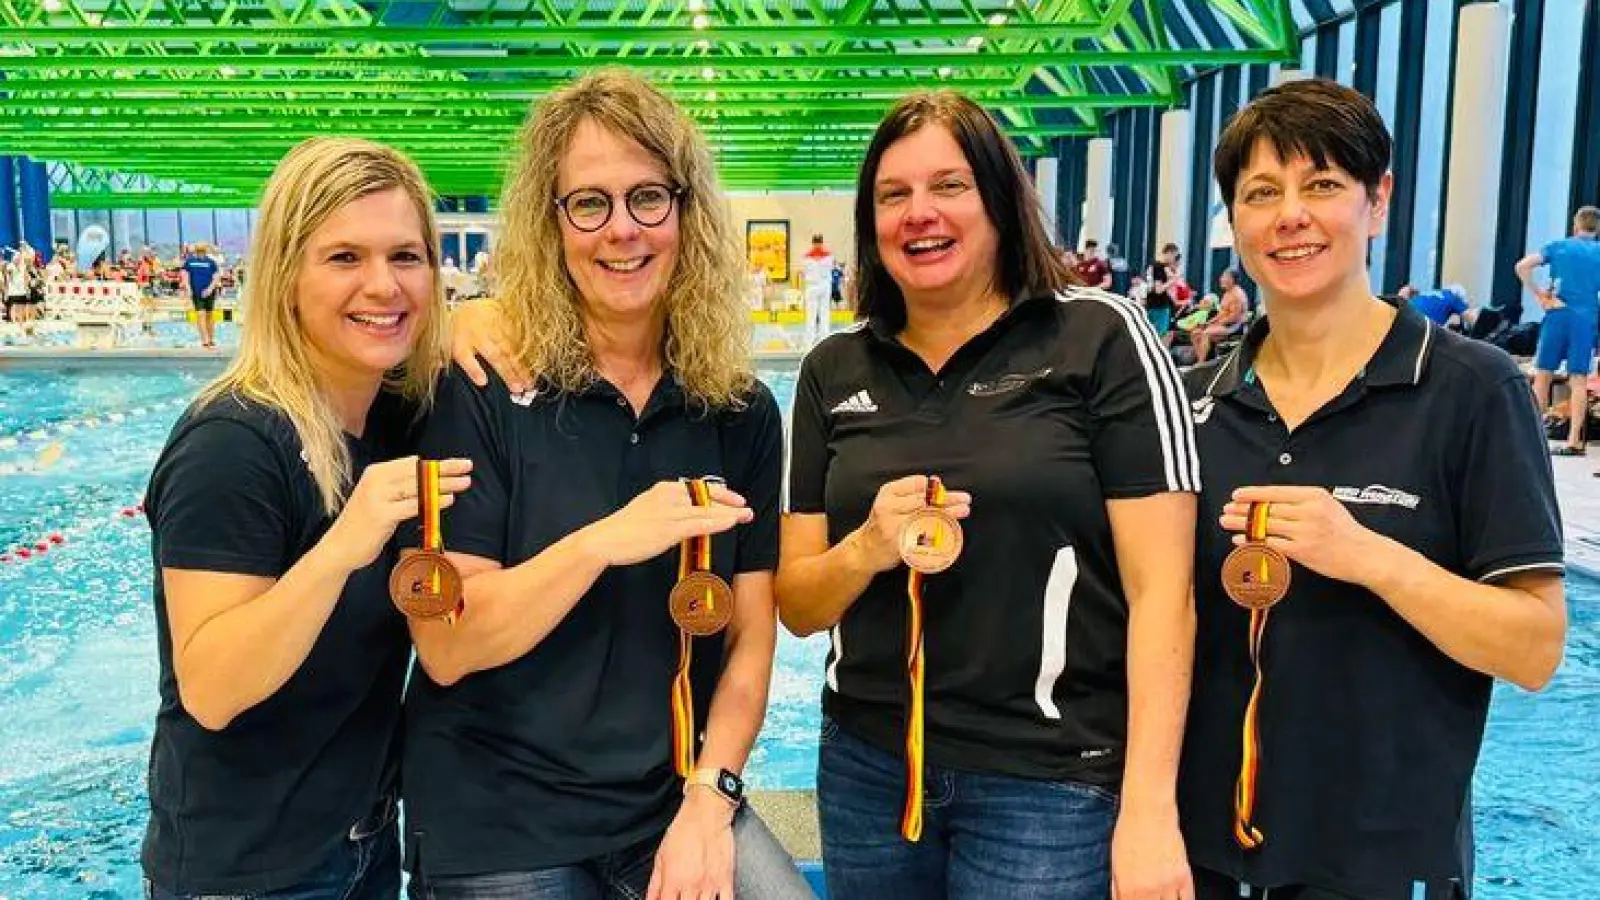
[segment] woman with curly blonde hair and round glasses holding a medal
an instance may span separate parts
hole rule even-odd
[[[782,432],[710,152],[616,70],[544,99],[518,151],[496,267],[531,380],[453,372],[424,436],[477,474],[445,520],[464,612],[411,623],[413,895],[810,897],[742,802]]]

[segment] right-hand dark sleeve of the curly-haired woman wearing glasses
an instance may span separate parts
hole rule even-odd
[[[757,381],[750,405],[738,415],[738,480],[733,488],[744,496],[755,519],[739,527],[734,573],[778,570],[778,514],[784,480],[784,423],[778,400]]]

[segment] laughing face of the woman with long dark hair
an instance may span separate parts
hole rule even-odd
[[[883,151],[874,183],[878,255],[906,296],[950,303],[995,288],[1000,237],[984,210],[973,168],[938,123]]]

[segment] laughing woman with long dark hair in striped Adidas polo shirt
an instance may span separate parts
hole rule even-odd
[[[1136,306],[1075,285],[958,94],[878,127],[856,259],[862,327],[800,370],[778,569],[784,625],[832,639],[829,895],[1181,897],[1176,370]]]

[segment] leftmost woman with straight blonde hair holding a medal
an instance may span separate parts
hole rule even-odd
[[[438,235],[389,147],[310,139],[261,203],[238,356],[146,500],[162,705],[147,897],[392,898],[410,645],[386,586],[443,365]],[[443,504],[470,463],[440,464]]]

